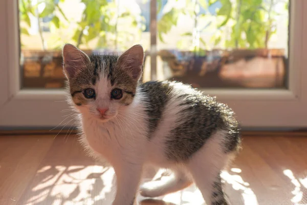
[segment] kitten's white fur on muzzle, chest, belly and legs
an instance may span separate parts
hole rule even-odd
[[[82,114],[81,142],[93,156],[104,157],[114,167],[117,176],[117,194],[114,205],[129,204],[134,200],[142,177],[144,165],[170,168],[175,175],[166,181],[148,182],[141,186],[144,196],[156,197],[178,191],[189,186],[192,174],[207,202],[210,202],[210,183],[218,172],[226,165],[227,156],[223,153],[221,141],[225,138],[224,131],[218,131],[206,145],[201,148],[187,164],[176,164],[164,156],[165,137],[168,136],[176,121],[181,118],[184,107],[178,105],[182,99],[177,96],[191,88],[182,84],[174,84],[170,93],[171,100],[166,104],[162,119],[151,140],[146,138],[146,112],[142,101],[146,96],[137,91],[134,101],[126,108],[111,103],[108,93],[112,88],[108,80],[101,76],[96,87],[98,98],[95,103],[79,108]],[[97,107],[109,109],[110,119],[102,121],[98,116]],[[184,122],[181,122],[184,123]],[[204,173],[205,172],[205,173]]]

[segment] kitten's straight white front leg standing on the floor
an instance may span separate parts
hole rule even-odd
[[[137,205],[136,193],[142,175],[142,165],[124,163],[114,167],[117,192],[112,205]]]

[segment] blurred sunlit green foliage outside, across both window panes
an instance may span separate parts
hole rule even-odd
[[[52,37],[48,40],[54,48],[66,43],[62,42],[59,33],[67,32],[71,35],[68,39],[77,47],[89,46],[95,39],[98,48],[124,49],[127,42],[139,41],[142,31],[145,30],[145,19],[141,12],[127,6],[119,9],[116,0],[80,0],[84,9],[77,22],[68,19],[65,11],[61,9],[61,4],[66,1],[19,0],[20,21],[24,23],[20,27],[21,34],[29,35],[33,26],[30,19],[36,17],[40,38],[42,42],[46,41],[41,24],[43,18],[48,17],[51,19],[54,43]],[[281,0],[169,0],[168,6],[163,6],[163,1],[157,0],[157,14],[162,13],[157,22],[157,35],[162,43],[167,43],[164,35],[177,27],[180,18],[185,16],[193,20],[193,25],[191,31],[178,33],[183,36],[177,44],[179,48],[190,48],[197,52],[206,50],[207,39],[201,37],[201,32],[205,30],[214,31],[211,38],[214,46],[267,48],[271,36],[276,33],[276,16],[280,13],[276,12],[275,6],[280,2]],[[149,4],[149,1],[143,0],[144,3]],[[210,11],[209,8],[215,4],[220,7],[214,12]],[[284,0],[282,4],[284,6],[280,8],[288,10],[289,1]],[[39,12],[38,8],[43,9]],[[200,12],[201,10],[205,12]],[[68,32],[68,25],[71,24],[74,25],[74,30]]]

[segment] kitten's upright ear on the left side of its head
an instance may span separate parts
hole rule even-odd
[[[63,47],[63,69],[68,79],[73,78],[80,70],[86,69],[90,58],[83,51],[71,44]]]

